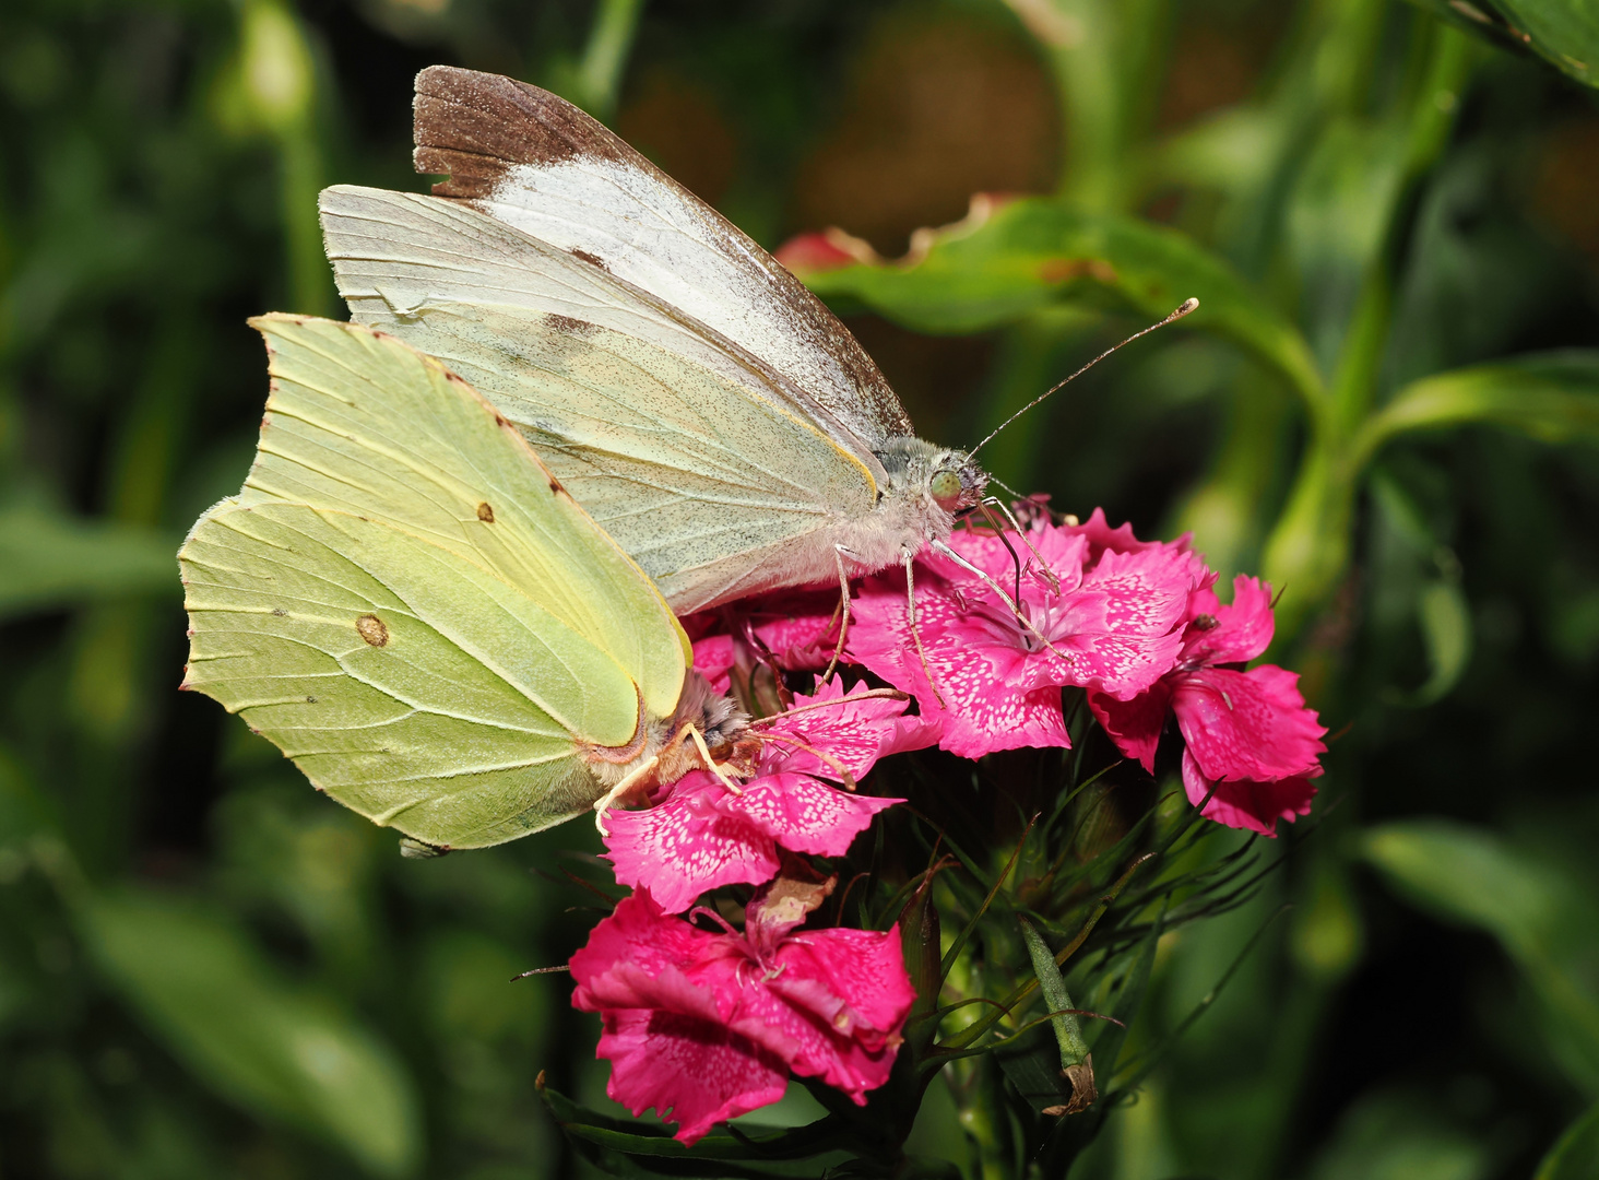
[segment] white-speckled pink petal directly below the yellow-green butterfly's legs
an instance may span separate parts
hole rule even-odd
[[[718,806],[723,796],[734,798],[713,774],[694,771],[654,807],[608,812],[604,846],[616,879],[648,889],[667,913],[688,910],[716,886],[769,881],[780,863],[772,833]]]

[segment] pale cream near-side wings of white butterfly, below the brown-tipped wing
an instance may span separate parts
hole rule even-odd
[[[323,208],[357,320],[516,422],[675,609],[755,588],[760,550],[873,510],[875,456],[857,459],[736,350],[603,270],[438,198],[331,189]]]

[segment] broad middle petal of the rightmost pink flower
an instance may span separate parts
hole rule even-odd
[[[1172,710],[1199,772],[1273,782],[1306,774],[1327,747],[1298,675],[1266,664],[1249,672],[1199,668],[1175,678]]]

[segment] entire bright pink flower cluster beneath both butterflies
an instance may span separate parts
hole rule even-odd
[[[1025,536],[958,531],[958,556],[924,552],[915,630],[902,571],[857,587],[844,660],[899,696],[833,676],[755,723],[761,753],[739,790],[696,771],[648,809],[609,814],[608,857],[633,894],[572,958],[572,1003],[601,1015],[609,1094],[633,1113],[670,1114],[692,1143],[776,1102],[790,1073],[857,1103],[887,1079],[915,999],[897,927],[800,929],[833,886],[801,857],[843,855],[902,803],[835,785],[879,758],[1067,747],[1062,689],[1079,688],[1151,772],[1174,723],[1206,817],[1270,836],[1310,811],[1326,731],[1294,673],[1247,667],[1271,641],[1270,588],[1239,577],[1223,604],[1186,539],[1140,542],[1102,512],[1081,524],[1031,515]],[[836,593],[790,593],[689,620],[696,668],[718,691],[755,657],[820,672],[836,608]],[[721,886],[758,887],[742,931],[696,905]]]

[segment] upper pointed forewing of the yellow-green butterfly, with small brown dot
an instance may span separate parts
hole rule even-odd
[[[369,329],[254,325],[273,381],[245,504],[350,512],[449,548],[608,651],[654,713],[672,712],[688,646],[660,593],[470,385]]]

